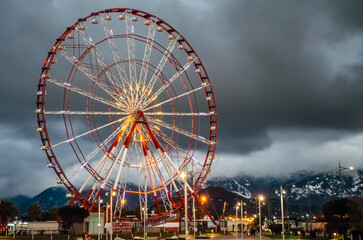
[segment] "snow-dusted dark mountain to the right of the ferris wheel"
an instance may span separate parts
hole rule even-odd
[[[286,195],[284,197],[285,212],[290,217],[306,217],[306,214],[321,213],[322,206],[329,200],[338,198],[340,192],[343,197],[362,196],[363,193],[363,171],[357,171],[355,176],[341,176],[333,173],[312,174],[309,172],[298,172],[289,179],[253,177],[250,175],[240,175],[234,178],[214,178],[207,181],[208,186],[205,191],[210,195],[210,199],[222,199],[231,206],[232,210],[226,208],[226,212],[233,213],[233,206],[237,200],[243,200],[248,212],[257,213],[257,203],[255,197],[263,194],[265,197],[263,211],[266,216],[280,216],[281,200],[280,186],[283,186]],[[235,195],[229,199],[219,198],[211,187],[220,187]],[[215,200],[213,201],[216,204]],[[222,207],[219,206],[220,209]],[[221,210],[219,211],[221,212]]]

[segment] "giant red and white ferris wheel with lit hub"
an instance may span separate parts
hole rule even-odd
[[[92,210],[111,192],[115,214],[138,196],[162,216],[198,200],[214,160],[216,101],[197,53],[160,18],[114,8],[79,19],[49,51],[36,105],[41,149],[70,204]]]

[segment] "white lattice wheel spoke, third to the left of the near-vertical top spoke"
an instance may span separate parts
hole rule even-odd
[[[91,69],[85,66],[82,62],[80,62],[76,57],[71,56],[65,50],[59,51],[59,53],[66,58],[71,64],[77,67],[82,73],[84,73],[92,82],[94,82],[97,86],[99,86],[103,91],[105,91],[112,99],[116,102],[122,104],[118,98],[116,98],[116,90],[111,89],[107,84],[105,84],[101,78],[95,76]]]

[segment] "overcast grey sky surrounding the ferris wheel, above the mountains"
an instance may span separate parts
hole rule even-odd
[[[66,27],[115,7],[165,20],[203,61],[220,124],[212,176],[363,169],[361,1],[1,0],[0,197],[54,185],[35,131],[41,65]]]

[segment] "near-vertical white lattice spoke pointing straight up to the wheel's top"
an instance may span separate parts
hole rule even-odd
[[[137,84],[136,73],[136,55],[135,55],[135,38],[134,38],[134,25],[133,25],[132,13],[126,12],[126,34],[127,34],[127,54],[129,58],[129,71],[130,71],[130,83]]]

